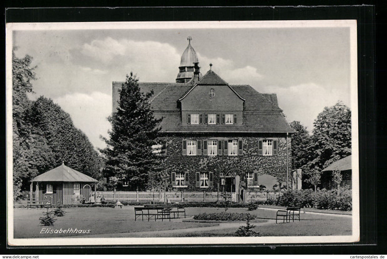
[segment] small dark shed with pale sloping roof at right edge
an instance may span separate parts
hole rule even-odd
[[[340,171],[342,175],[341,186],[352,186],[352,159],[351,155],[330,164],[322,170],[321,184],[323,188],[332,189],[332,172]]]

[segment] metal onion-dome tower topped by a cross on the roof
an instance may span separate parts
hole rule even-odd
[[[188,46],[184,50],[182,58],[180,60],[179,73],[176,77],[176,83],[188,83],[194,76],[197,80],[200,80],[202,74],[199,72],[199,60],[197,59],[196,52],[191,46],[192,37],[188,36]]]

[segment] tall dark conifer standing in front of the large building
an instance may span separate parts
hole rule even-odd
[[[106,159],[103,173],[106,178],[127,181],[128,190],[144,190],[149,173],[159,164],[152,145],[156,144],[161,119],[155,119],[151,111],[148,100],[152,94],[141,93],[138,79],[131,73],[120,90],[117,111],[108,118],[112,129],[110,138],[103,138],[107,144],[101,150]]]

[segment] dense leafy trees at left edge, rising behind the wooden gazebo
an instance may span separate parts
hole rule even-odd
[[[15,49],[14,49],[15,51]],[[12,140],[15,197],[29,180],[59,166],[62,161],[84,174],[100,178],[101,159],[82,131],[59,105],[45,97],[36,101],[32,57],[12,53]]]

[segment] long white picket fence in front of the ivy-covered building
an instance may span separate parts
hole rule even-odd
[[[236,202],[236,193],[231,192],[231,201]],[[147,191],[147,192],[97,192],[97,196],[106,201],[127,202],[217,202],[223,200],[220,192],[188,192],[188,191]],[[262,202],[267,199],[277,199],[278,192],[245,192],[245,202]]]

